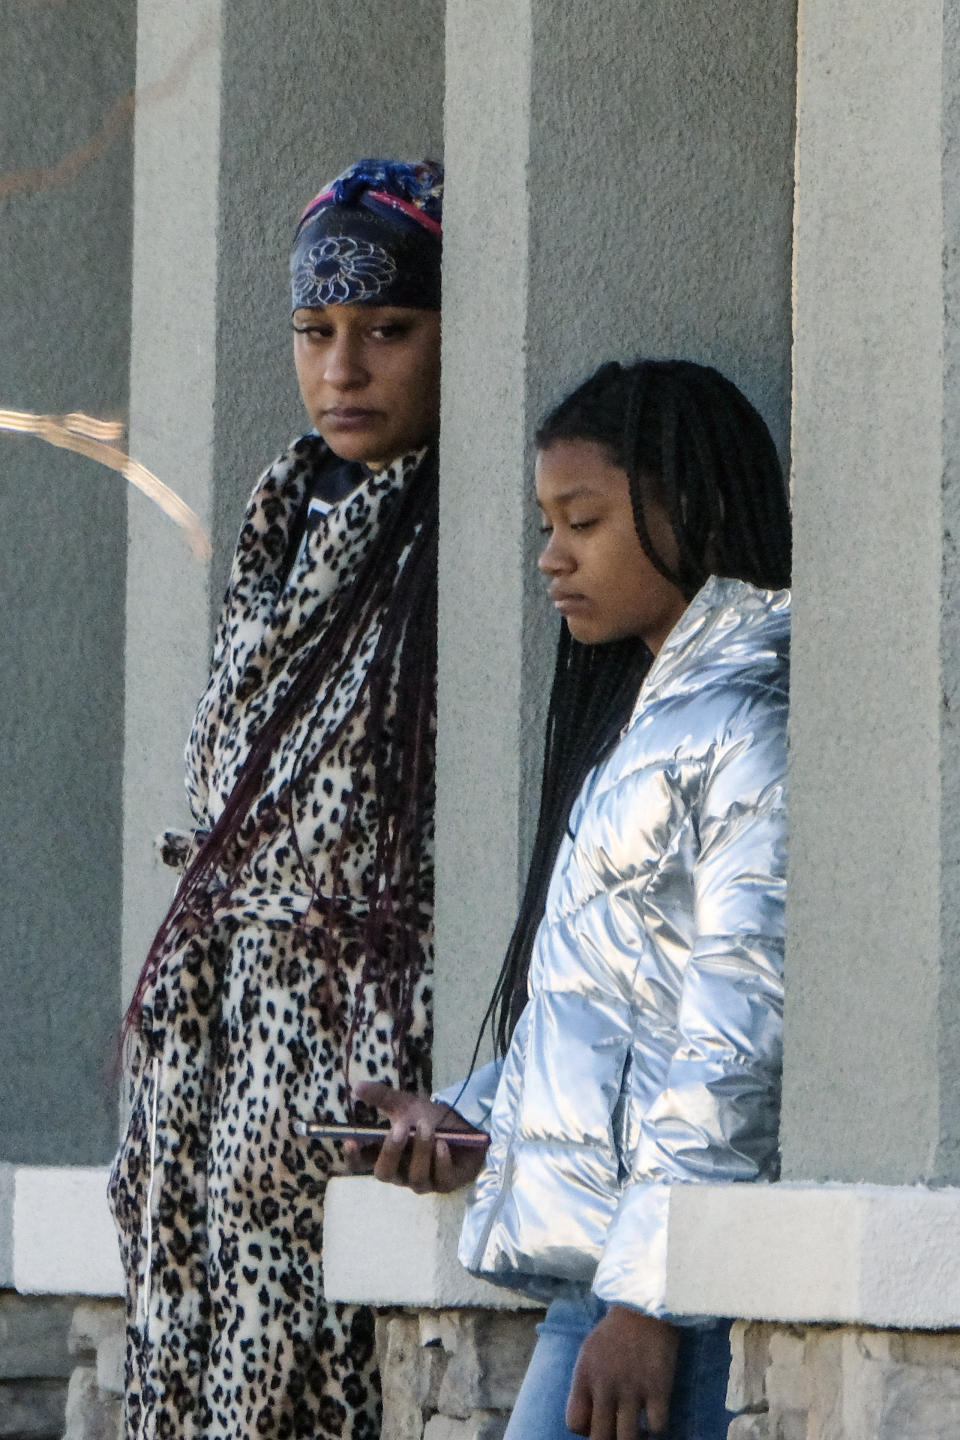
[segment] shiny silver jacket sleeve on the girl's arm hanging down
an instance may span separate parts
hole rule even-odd
[[[594,1292],[665,1316],[671,1184],[774,1178],[783,1020],[786,696],[740,707],[708,762],[695,942],[665,1083],[628,1136]]]

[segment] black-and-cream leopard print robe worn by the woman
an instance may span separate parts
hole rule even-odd
[[[258,482],[240,531],[209,687],[187,744],[199,829],[230,793],[252,736],[332,615],[420,455],[383,471],[309,528],[286,577],[291,527],[328,452],[304,436]],[[322,891],[343,837],[344,795],[366,720],[357,693],[379,635],[330,698],[353,708],[292,821]],[[314,727],[315,729],[315,727]],[[278,792],[315,736],[292,724],[263,780]],[[367,1440],[380,1387],[367,1308],[327,1303],[321,1228],[334,1146],[299,1139],[296,1116],[348,1116],[351,1079],[429,1084],[432,916],[404,1058],[391,1015],[363,982],[364,887],[373,867],[373,773],[338,858],[337,963],[321,958],[314,894],[288,827],[262,835],[240,881],[201,927],[184,929],[145,996],[132,1057],[132,1107],[109,1195],[127,1273],[127,1437]],[[347,1057],[347,1045],[350,1057]]]

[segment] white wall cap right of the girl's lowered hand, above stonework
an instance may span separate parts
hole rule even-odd
[[[960,1189],[676,1185],[666,1302],[676,1315],[960,1326]]]

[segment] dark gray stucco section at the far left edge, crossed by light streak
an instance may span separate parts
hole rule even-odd
[[[132,0],[10,0],[0,408],[124,419]],[[114,1145],[125,485],[0,433],[0,1161]]]

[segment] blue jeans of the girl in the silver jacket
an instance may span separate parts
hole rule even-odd
[[[580,1345],[606,1315],[593,1295],[554,1300],[543,1325],[504,1440],[576,1440],[564,1410]],[[665,1440],[725,1440],[730,1320],[681,1329],[676,1375]]]

